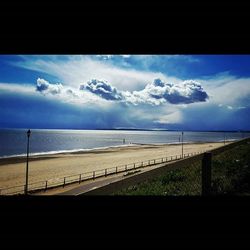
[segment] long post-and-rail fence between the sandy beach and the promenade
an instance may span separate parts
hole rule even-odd
[[[192,157],[198,154],[202,154],[205,151],[199,151],[194,153],[183,154],[183,158]],[[65,187],[68,184],[73,183],[81,183],[83,181],[96,179],[100,177],[107,177],[109,175],[119,174],[123,172],[127,172],[130,170],[135,170],[139,168],[149,167],[153,165],[169,163],[173,161],[177,161],[182,159],[182,155],[173,155],[169,157],[162,157],[157,159],[149,159],[145,161],[130,163],[126,165],[120,165],[116,167],[101,169],[101,170],[94,170],[91,172],[79,173],[70,176],[63,176],[59,178],[48,179],[44,181],[38,181],[28,184],[28,193],[34,193],[38,191],[47,191],[48,189],[55,188],[55,187]],[[0,195],[15,195],[15,194],[23,194],[25,190],[25,185],[7,187],[0,189]]]

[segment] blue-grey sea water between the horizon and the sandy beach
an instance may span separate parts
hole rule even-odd
[[[25,155],[27,130],[0,129],[0,157]],[[179,143],[181,132],[176,131],[125,131],[125,130],[31,130],[30,154],[87,151],[96,148],[129,146],[131,144]],[[241,132],[185,132],[184,143],[219,142],[249,137]],[[125,141],[124,141],[125,139]]]

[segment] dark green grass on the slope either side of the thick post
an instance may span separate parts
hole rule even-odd
[[[250,194],[250,144],[237,146],[212,161],[213,194]],[[201,162],[172,170],[114,195],[200,195]]]

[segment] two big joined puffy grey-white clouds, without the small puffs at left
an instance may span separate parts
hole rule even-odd
[[[106,100],[121,101],[133,105],[160,105],[166,102],[190,104],[205,102],[208,99],[208,95],[201,85],[193,80],[173,84],[155,79],[152,83],[147,84],[144,89],[130,92],[117,90],[107,81],[92,79],[82,84],[80,90],[90,91]]]

